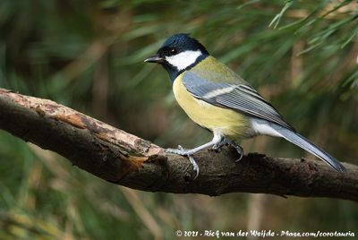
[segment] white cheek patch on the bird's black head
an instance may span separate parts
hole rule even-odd
[[[184,51],[175,56],[166,56],[166,62],[175,66],[178,71],[181,71],[191,64],[194,64],[196,59],[201,56],[202,53],[200,50],[196,51]]]

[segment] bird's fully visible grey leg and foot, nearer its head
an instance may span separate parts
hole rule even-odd
[[[194,179],[195,179],[195,178],[197,178],[197,176],[199,176],[199,166],[196,163],[195,159],[192,157],[192,155],[200,150],[203,150],[203,149],[206,149],[208,147],[218,144],[220,141],[222,141],[222,139],[223,139],[222,135],[214,133],[214,138],[211,141],[209,141],[199,147],[196,147],[195,149],[185,150],[185,149],[183,149],[182,146],[179,145],[177,149],[166,149],[166,152],[187,156],[188,159],[190,160],[190,162],[192,163],[193,170],[196,172],[196,175],[194,177]]]

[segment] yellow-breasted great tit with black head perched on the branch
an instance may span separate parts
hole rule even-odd
[[[241,76],[211,56],[197,39],[187,33],[175,34],[163,43],[146,63],[162,65],[169,74],[175,99],[193,122],[213,133],[213,139],[194,149],[166,149],[168,153],[188,157],[199,176],[200,168],[193,155],[200,150],[234,147],[243,158],[243,148],[236,143],[258,135],[284,138],[325,161],[337,172],[345,167],[325,150],[297,133]]]

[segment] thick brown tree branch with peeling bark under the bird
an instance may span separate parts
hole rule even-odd
[[[358,201],[358,167],[337,173],[322,161],[277,159],[236,151],[203,150],[195,155],[200,176],[188,159],[166,154],[149,141],[99,122],[51,100],[0,89],[0,129],[53,150],[73,165],[115,184],[149,192],[271,193]]]

